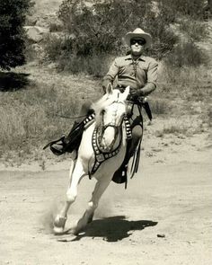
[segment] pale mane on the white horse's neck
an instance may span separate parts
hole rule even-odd
[[[119,93],[120,92],[118,89],[114,89],[111,94],[106,93],[102,96],[102,98],[99,101],[93,102],[92,108],[95,111],[95,120],[96,120],[97,126],[100,125],[102,121],[101,115],[100,115],[102,110],[110,106],[112,102],[118,101]]]

